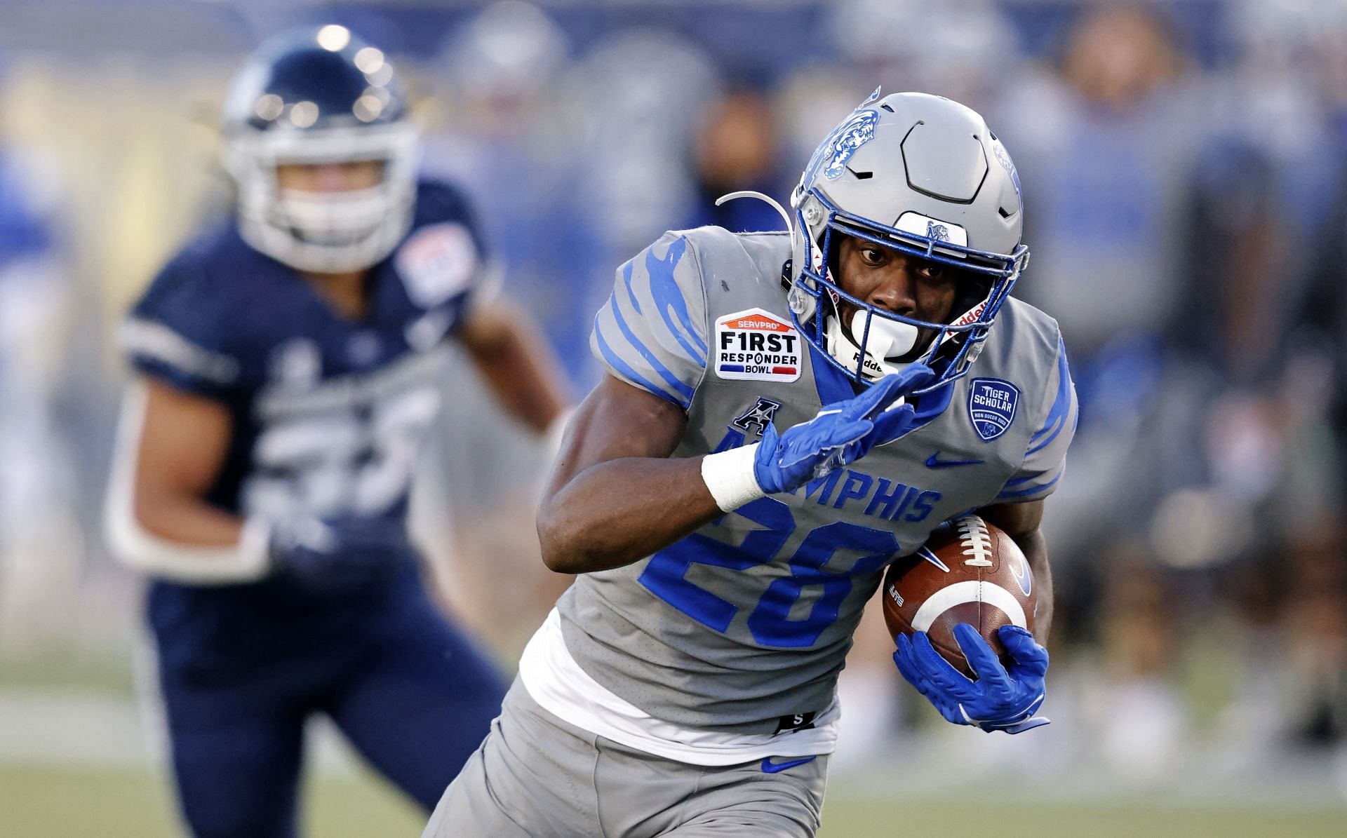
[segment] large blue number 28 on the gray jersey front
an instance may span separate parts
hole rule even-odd
[[[730,570],[765,565],[777,558],[795,532],[791,508],[770,497],[746,504],[730,515],[746,517],[762,529],[748,534],[738,547],[692,534],[651,556],[638,579],[660,600],[718,632],[730,628],[740,609],[688,581],[686,577],[692,565]],[[828,570],[828,562],[838,550],[854,550],[861,556],[845,571]],[[884,529],[847,521],[814,528],[789,558],[791,575],[775,579],[749,614],[748,626],[753,639],[762,645],[781,648],[814,645],[819,635],[836,621],[842,601],[851,593],[853,578],[884,567],[897,551],[898,539]],[[816,587],[818,598],[808,614],[792,618],[791,610],[807,587]]]

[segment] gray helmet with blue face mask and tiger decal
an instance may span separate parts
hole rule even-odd
[[[876,89],[814,152],[791,207],[791,311],[806,340],[857,383],[900,369],[921,329],[933,338],[916,360],[938,375],[920,392],[966,375],[1029,260],[1010,155],[978,113],[939,96],[880,98]],[[838,234],[975,278],[959,290],[962,314],[931,323],[850,296],[828,276]],[[850,323],[838,314],[843,299],[857,307]]]

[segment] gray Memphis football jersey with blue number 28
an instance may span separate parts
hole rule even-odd
[[[792,325],[785,233],[667,233],[618,268],[591,337],[607,370],[687,411],[675,457],[756,442],[851,397]],[[808,723],[861,610],[942,521],[1047,497],[1076,419],[1056,322],[1009,300],[943,410],[791,493],[655,555],[585,574],[559,602],[577,663],[655,718],[733,733]],[[923,399],[928,399],[925,396]]]

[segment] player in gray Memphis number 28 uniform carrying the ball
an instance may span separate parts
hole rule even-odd
[[[1057,325],[1009,296],[1010,156],[958,102],[876,90],[791,207],[787,233],[667,233],[618,269],[610,375],[539,512],[578,579],[427,835],[815,834],[861,610],[970,511],[1029,558],[1047,636],[1039,521],[1076,401]],[[1008,667],[966,636],[977,679],[921,633],[896,662],[951,722],[1020,733],[1048,656],[999,637]]]

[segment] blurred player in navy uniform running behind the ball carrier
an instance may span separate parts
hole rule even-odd
[[[304,721],[329,715],[427,808],[504,684],[422,586],[405,523],[457,340],[543,432],[563,396],[492,300],[470,207],[418,179],[384,54],[343,27],[279,36],[225,105],[237,218],[189,244],[124,327],[108,531],[148,620],[197,835],[295,834]]]

